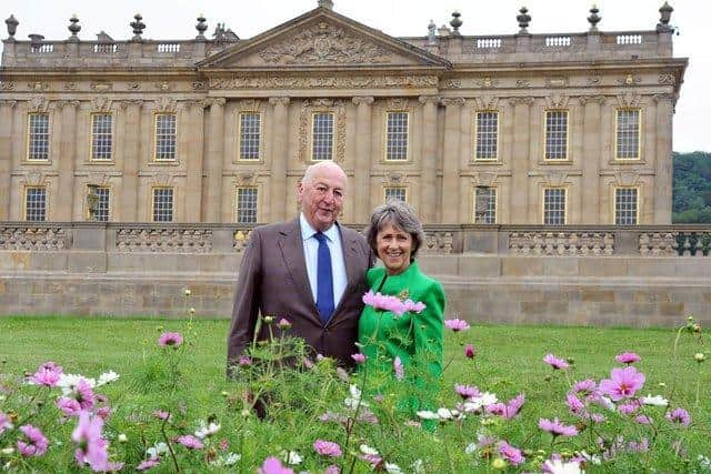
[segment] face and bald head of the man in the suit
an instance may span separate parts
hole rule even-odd
[[[297,194],[309,224],[323,232],[333,225],[343,208],[346,174],[338,167],[319,168],[310,179],[299,183]]]

